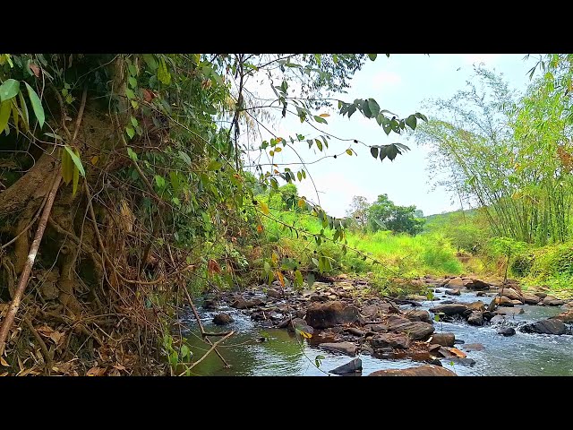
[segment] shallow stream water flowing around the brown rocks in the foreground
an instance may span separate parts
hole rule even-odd
[[[451,297],[448,297],[451,298]],[[487,306],[492,297],[476,297],[473,292],[456,297],[459,302],[482,300]],[[428,309],[440,302],[423,302]],[[410,306],[402,306],[409,309]],[[560,314],[560,306],[523,306],[525,313],[506,317],[506,325],[517,326],[524,323],[549,318]],[[227,312],[235,319],[234,323],[218,327],[211,322],[219,312]],[[225,368],[215,354],[210,354],[193,374],[201,375],[327,375],[329,370],[346,364],[351,357],[338,355],[318,348],[307,340],[297,340],[294,333],[281,329],[261,328],[253,323],[248,315],[233,308],[221,306],[217,312],[202,312],[201,321],[207,331],[229,331],[235,334],[221,344],[219,350],[231,368]],[[186,314],[183,323],[188,327],[186,334],[197,359],[209,347],[198,337],[197,324],[192,314]],[[453,332],[457,340],[466,344],[481,343],[483,350],[465,351],[468,358],[475,360],[474,366],[450,363],[448,358],[441,360],[442,366],[458,375],[569,375],[573,376],[573,336],[552,336],[528,334],[517,330],[511,337],[497,333],[497,326],[475,327],[465,322],[434,323],[436,332]],[[570,330],[568,331],[570,332]],[[214,338],[212,338],[215,340]],[[261,341],[263,340],[263,341]],[[299,342],[302,342],[299,343]],[[464,350],[464,345],[456,345]],[[315,357],[323,356],[320,368],[315,366]],[[380,359],[362,354],[363,375],[376,370],[417,366],[420,362],[410,359]]]

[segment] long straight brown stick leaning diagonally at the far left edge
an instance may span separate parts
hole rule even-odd
[[[36,230],[36,236],[34,236],[34,241],[30,246],[30,253],[28,254],[28,259],[26,260],[26,265],[24,266],[24,270],[21,272],[20,280],[18,280],[18,287],[16,288],[13,301],[10,304],[8,313],[6,314],[4,322],[2,323],[2,328],[0,328],[0,356],[4,354],[4,348],[6,346],[6,339],[8,337],[8,332],[12,328],[14,318],[16,316],[16,313],[18,312],[18,308],[20,307],[21,297],[24,293],[24,289],[26,289],[26,286],[28,285],[28,280],[30,279],[32,266],[34,265],[34,261],[36,260],[36,255],[38,254],[39,243],[41,242],[42,236],[44,236],[44,230],[46,229],[47,217],[50,214],[50,211],[52,211],[52,205],[54,204],[54,200],[56,199],[56,192],[58,187],[60,186],[61,181],[62,181],[62,175],[58,173],[58,175],[56,176],[56,181],[54,181],[54,185],[52,186],[52,189],[50,190],[50,193],[47,196],[46,206],[44,206],[42,217],[39,219],[38,229]]]

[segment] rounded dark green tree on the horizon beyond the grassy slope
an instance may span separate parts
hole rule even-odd
[[[368,228],[373,232],[381,229],[393,233],[417,235],[423,229],[423,219],[415,217],[415,206],[397,206],[388,194],[381,194],[368,210]]]

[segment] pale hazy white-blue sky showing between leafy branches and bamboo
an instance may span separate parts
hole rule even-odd
[[[415,112],[424,113],[424,100],[449,99],[456,91],[464,90],[466,81],[473,79],[474,64],[480,63],[503,73],[509,86],[523,93],[530,82],[527,72],[536,62],[535,56],[528,60],[524,57],[525,54],[379,55],[373,62],[366,60],[362,70],[355,73],[347,93],[338,95],[338,98],[351,102],[372,97],[381,109],[388,109],[399,117]],[[269,95],[268,90],[263,91]],[[357,157],[342,155],[337,159],[322,159],[308,165],[307,170],[318,190],[318,197],[308,178],[295,182],[299,195],[306,196],[312,202],[320,202],[322,209],[335,217],[346,216],[354,195],[362,195],[369,202],[374,202],[382,193],[387,193],[396,204],[414,204],[426,216],[459,209],[458,202],[446,190],[432,190],[432,177],[437,172],[428,168],[428,148],[418,146],[412,139],[396,133],[387,136],[375,119],[367,119],[360,112],[351,118],[338,115],[335,109],[323,108],[318,113],[328,113],[326,119],[329,124],[315,125],[340,138],[357,139],[368,145],[400,142],[411,150],[398,155],[393,162],[389,159],[381,162],[372,158],[367,147],[351,144]],[[283,137],[303,133],[306,138],[313,138],[320,134],[310,126],[301,124],[296,116],[281,117],[268,126]],[[262,137],[269,139],[270,134],[263,131]],[[326,153],[333,155],[348,147],[348,142],[331,139]],[[298,143],[295,148],[305,162],[320,159],[323,155],[314,147],[309,150],[306,142]],[[275,156],[279,166],[281,163],[298,161],[294,152],[287,148]],[[296,171],[300,167],[291,168]]]

